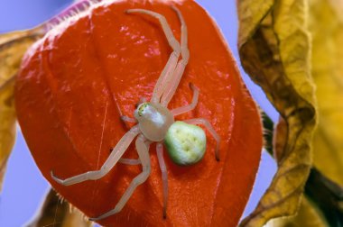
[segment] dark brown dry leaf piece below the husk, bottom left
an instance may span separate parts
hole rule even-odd
[[[60,227],[88,227],[92,226],[78,209],[63,201],[54,190],[50,190],[38,216],[28,227],[60,226]]]

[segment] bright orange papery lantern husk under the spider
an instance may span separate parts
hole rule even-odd
[[[18,120],[42,175],[70,204],[89,217],[115,207],[141,166],[118,163],[107,176],[73,186],[61,178],[97,170],[133,124],[141,97],[153,86],[172,50],[160,23],[125,14],[144,8],[163,14],[180,39],[181,10],[189,30],[190,62],[169,109],[190,104],[189,84],[199,87],[194,111],[176,120],[206,118],[222,138],[220,161],[207,132],[204,159],[190,167],[172,163],[167,152],[169,197],[162,218],[162,178],[155,146],[152,172],[124,209],[98,221],[105,226],[236,226],[251,193],[263,146],[257,107],[218,28],[199,5],[186,1],[105,1],[61,23],[26,53],[15,87]],[[164,148],[165,149],[165,148]],[[124,158],[137,159],[134,145]]]

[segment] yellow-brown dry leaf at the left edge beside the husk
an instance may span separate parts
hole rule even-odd
[[[15,141],[14,77],[24,52],[40,37],[41,28],[0,35],[0,191]]]

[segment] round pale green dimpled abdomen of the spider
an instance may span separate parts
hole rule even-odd
[[[196,125],[175,122],[168,129],[164,139],[172,160],[181,166],[199,162],[206,150],[206,134]]]

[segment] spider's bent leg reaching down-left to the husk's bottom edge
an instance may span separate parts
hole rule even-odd
[[[141,159],[142,162],[143,172],[140,173],[137,177],[134,177],[134,180],[131,182],[130,186],[128,186],[124,195],[122,195],[122,197],[120,198],[119,202],[116,204],[116,207],[113,210],[110,210],[107,213],[98,216],[97,218],[89,218],[90,221],[104,219],[108,216],[120,212],[126,204],[127,200],[134,193],[134,189],[137,186],[144,183],[144,181],[149,177],[151,170],[149,144],[145,144],[145,137],[143,134],[138,136],[137,140],[135,141],[135,147],[137,149],[139,159]]]

